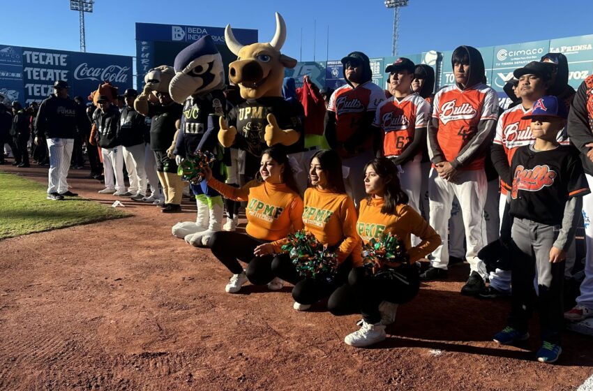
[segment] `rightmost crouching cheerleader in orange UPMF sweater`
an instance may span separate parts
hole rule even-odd
[[[407,195],[401,189],[396,166],[387,158],[376,158],[364,168],[364,186],[368,194],[361,200],[356,230],[364,243],[380,239],[384,233],[397,235],[405,244],[409,263],[389,264],[395,269],[392,279],[369,275],[357,256],[348,276],[351,293],[354,293],[363,316],[361,329],[349,334],[345,343],[351,346],[368,346],[385,339],[385,326],[396,318],[398,304],[412,300],[420,287],[419,268],[416,260],[424,258],[441,244],[440,236],[428,225],[414,208],[407,205]],[[412,246],[410,235],[421,239]],[[361,249],[358,249],[360,253]],[[340,289],[341,290],[341,289]],[[345,295],[336,292],[335,295]],[[333,300],[338,300],[332,297]]]

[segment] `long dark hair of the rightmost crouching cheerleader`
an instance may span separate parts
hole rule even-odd
[[[405,191],[402,190],[400,178],[398,177],[398,168],[388,158],[374,158],[364,166],[364,172],[369,165],[372,165],[377,175],[385,184],[383,195],[384,204],[381,208],[382,214],[395,214],[396,207],[399,204],[407,204],[410,201]],[[366,200],[370,202],[372,195],[368,195]]]

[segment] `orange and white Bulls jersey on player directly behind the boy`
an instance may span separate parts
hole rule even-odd
[[[525,115],[530,115],[532,109],[525,109],[523,105],[516,105],[514,108],[506,110],[500,115],[496,125],[496,135],[494,138],[495,144],[502,145],[506,158],[511,166],[513,155],[518,147],[524,145],[532,145],[535,141],[531,133],[531,119],[521,119]],[[570,141],[566,135],[566,131],[562,129],[558,132],[556,140],[561,145],[569,145]],[[506,195],[507,190],[510,189],[509,184],[500,181],[500,193]]]

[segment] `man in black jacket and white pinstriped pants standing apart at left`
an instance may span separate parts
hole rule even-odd
[[[39,106],[35,119],[35,143],[47,140],[50,149],[50,172],[48,174],[47,199],[62,200],[64,195],[75,196],[68,190],[68,169],[76,131],[76,102],[68,97],[68,83],[54,83],[55,94]]]

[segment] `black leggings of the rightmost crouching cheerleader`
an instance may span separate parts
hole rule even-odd
[[[360,312],[367,323],[379,322],[382,301],[404,304],[416,297],[420,289],[416,265],[402,265],[396,273],[393,279],[367,276],[363,267],[354,267],[348,285],[338,288],[329,298],[329,310],[334,315]]]

